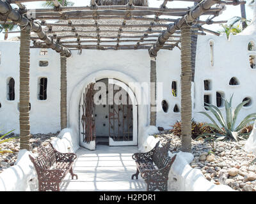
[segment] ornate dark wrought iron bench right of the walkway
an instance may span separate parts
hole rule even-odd
[[[170,168],[176,155],[172,158],[168,156],[170,142],[166,143],[163,147],[159,147],[157,142],[154,149],[145,153],[135,153],[132,159],[135,160],[137,171],[132,175],[138,179],[139,173],[147,184],[147,191],[167,191],[167,181]]]

